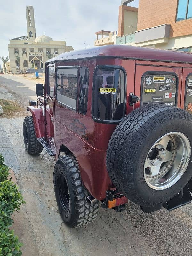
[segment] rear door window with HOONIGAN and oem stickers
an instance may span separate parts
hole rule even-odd
[[[175,106],[177,78],[168,74],[146,74],[143,76],[141,88],[142,103],[164,103]]]

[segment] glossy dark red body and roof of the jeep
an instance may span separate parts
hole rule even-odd
[[[123,45],[67,52],[46,62],[46,69],[53,68],[54,84],[57,80],[57,68],[69,66],[88,68],[86,114],[78,113],[78,106],[76,110],[72,110],[58,102],[56,86],[53,96],[49,95],[50,78],[47,71],[44,97],[38,99],[38,108],[29,106],[27,110],[32,113],[36,138],[44,138],[44,143],[49,145],[51,155],[54,155],[56,160],[61,152],[73,154],[78,162],[85,188],[94,198],[104,200],[106,191],[115,189],[106,167],[106,152],[118,122],[103,123],[92,117],[94,70],[98,66],[115,66],[124,69],[125,115],[143,105],[141,84],[143,75],[148,72],[173,74],[177,79],[175,104],[178,108],[191,111],[190,104],[185,106],[185,98],[186,79],[192,74],[192,54]],[[77,81],[77,91],[78,83]],[[77,93],[78,99],[79,91]],[[132,103],[130,93],[141,100]]]

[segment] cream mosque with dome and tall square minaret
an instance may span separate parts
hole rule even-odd
[[[27,36],[13,38],[8,44],[9,69],[12,73],[34,72],[36,68],[43,72],[45,61],[50,56],[73,51],[72,46],[66,46],[66,41],[54,41],[46,35],[36,37],[33,6],[26,6],[26,18]]]

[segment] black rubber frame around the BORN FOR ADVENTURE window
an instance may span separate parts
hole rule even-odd
[[[111,69],[120,69],[124,73],[124,108],[123,108],[123,116],[120,120],[101,120],[98,118],[95,118],[93,116],[93,110],[94,110],[94,90],[95,90],[95,77],[96,77],[96,72],[98,69],[102,68],[111,68]],[[96,123],[101,123],[101,124],[119,124],[121,120],[125,117],[126,115],[126,94],[127,94],[127,73],[126,70],[122,66],[118,65],[97,65],[93,71],[93,85],[92,85],[92,108],[91,108],[91,116],[93,121]]]

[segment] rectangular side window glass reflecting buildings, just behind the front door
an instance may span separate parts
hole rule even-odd
[[[78,68],[57,69],[57,100],[76,109]]]

